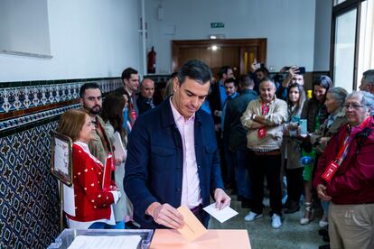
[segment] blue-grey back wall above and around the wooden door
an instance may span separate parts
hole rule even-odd
[[[157,72],[171,69],[171,40],[208,39],[223,33],[227,39],[267,38],[267,67],[297,64],[313,70],[315,0],[147,0],[147,49],[157,52]],[[163,6],[164,20],[157,20]],[[210,23],[225,23],[211,29]],[[174,25],[175,33],[162,33]]]

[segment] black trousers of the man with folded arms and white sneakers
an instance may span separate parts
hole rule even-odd
[[[262,201],[264,199],[264,176],[267,181],[267,188],[270,192],[270,216],[282,215],[282,190],[280,182],[281,155],[257,155],[253,156],[254,161],[250,164],[253,193],[252,212],[262,213]]]

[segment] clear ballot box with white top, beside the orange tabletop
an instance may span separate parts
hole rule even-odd
[[[153,230],[145,229],[65,229],[48,249],[146,249],[149,248],[153,235]]]

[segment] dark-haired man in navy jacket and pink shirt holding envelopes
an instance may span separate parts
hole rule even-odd
[[[223,190],[212,118],[200,110],[210,90],[211,72],[189,60],[173,80],[174,95],[136,119],[128,140],[125,191],[142,228],[179,228],[176,208],[185,205],[204,226],[202,207],[229,206]]]

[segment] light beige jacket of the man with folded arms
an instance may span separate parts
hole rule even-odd
[[[283,125],[287,120],[287,104],[276,97],[270,102],[269,112],[266,115],[266,136],[258,138],[258,129],[252,128],[252,115],[261,115],[261,98],[249,102],[247,110],[240,121],[248,129],[248,148],[255,152],[269,152],[280,149],[283,138]]]

